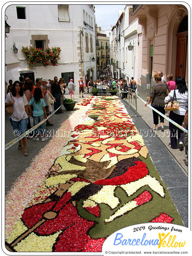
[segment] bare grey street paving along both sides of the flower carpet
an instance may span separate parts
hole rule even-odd
[[[69,95],[65,95],[66,98],[70,98]],[[86,97],[90,95],[85,94]],[[120,99],[120,98],[119,98]],[[75,94],[75,101],[81,102],[82,98],[79,98],[78,94]],[[184,226],[188,226],[188,178],[187,167],[184,165],[185,159],[184,151],[170,150],[168,148],[169,136],[168,134],[168,122],[165,121],[165,134],[162,131],[157,131],[156,135],[153,128],[152,110],[144,106],[144,103],[137,98],[137,116],[134,110],[134,106],[129,108],[128,100],[121,100],[130,117],[132,118],[139,134],[143,137],[145,145],[149,151],[149,155],[153,161],[156,170],[159,172],[162,180],[167,185],[167,189],[175,203],[177,210],[179,211]],[[130,104],[131,105],[131,104]],[[49,134],[53,136],[54,132],[61,126],[61,124],[78,110],[81,106],[76,105],[73,111],[64,110],[63,114],[53,115],[51,122],[53,127],[47,127],[48,130],[52,130]],[[64,109],[64,107],[63,107]],[[14,139],[13,130],[9,123],[8,114],[5,114],[5,143]],[[167,135],[167,136],[165,136]],[[27,150],[29,155],[25,157],[23,150],[18,150],[18,143],[11,146],[5,152],[5,194],[7,194],[13,185],[17,181],[20,175],[25,172],[25,169],[31,164],[35,156],[40,151],[44,150],[44,147],[48,144],[52,146],[52,137],[48,137],[45,142],[33,141],[27,139]],[[177,160],[176,160],[177,159]]]

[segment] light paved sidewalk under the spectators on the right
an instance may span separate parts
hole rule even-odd
[[[122,101],[125,104],[128,104],[128,100],[122,100]],[[136,110],[134,99],[132,99],[132,103],[131,103],[131,99],[130,99],[130,107],[132,107],[134,110]],[[146,130],[139,130],[139,133],[143,137],[147,136],[147,134],[153,134],[150,131],[150,129],[153,129],[155,127],[155,125],[153,123],[152,109],[150,109],[148,106],[145,107],[145,103],[143,101],[141,101],[138,97],[137,97],[137,115],[140,115],[141,118],[144,119],[144,121],[146,122],[146,124],[149,127],[149,129],[146,129]],[[165,113],[165,116],[168,117],[167,111]],[[185,148],[183,151],[180,151],[179,143],[177,144],[177,149],[170,148],[170,146],[169,146],[169,144],[170,144],[169,121],[167,121],[166,119],[165,119],[165,123],[164,123],[164,128],[165,128],[165,131],[162,132],[160,123],[159,123],[159,129],[152,136],[156,135],[157,137],[159,137],[159,139],[162,141],[162,143],[166,146],[167,150],[174,157],[177,164],[182,168],[183,172],[185,174],[188,174],[188,167],[184,163],[184,160],[186,158]]]

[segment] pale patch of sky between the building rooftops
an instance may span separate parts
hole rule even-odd
[[[110,29],[118,20],[119,10],[125,8],[125,4],[94,4],[95,18],[98,27],[102,30]],[[112,25],[112,26],[110,26]],[[104,27],[103,27],[104,26]]]

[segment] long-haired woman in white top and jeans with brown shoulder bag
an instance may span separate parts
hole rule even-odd
[[[14,135],[19,136],[27,131],[27,119],[29,116],[27,98],[23,94],[23,87],[19,81],[13,83],[12,91],[7,94],[5,99],[5,107],[11,105],[13,105],[13,113],[10,114],[9,120],[13,127]],[[27,156],[27,137],[19,140],[18,150],[22,149],[22,144],[24,155]]]

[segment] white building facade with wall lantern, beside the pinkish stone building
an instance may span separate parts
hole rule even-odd
[[[138,24],[138,19],[131,16],[131,7],[132,5],[126,5],[111,31],[111,70],[114,77],[124,78],[128,82],[134,77],[139,85],[142,68],[142,27]],[[130,44],[133,46],[132,50],[128,50]]]

